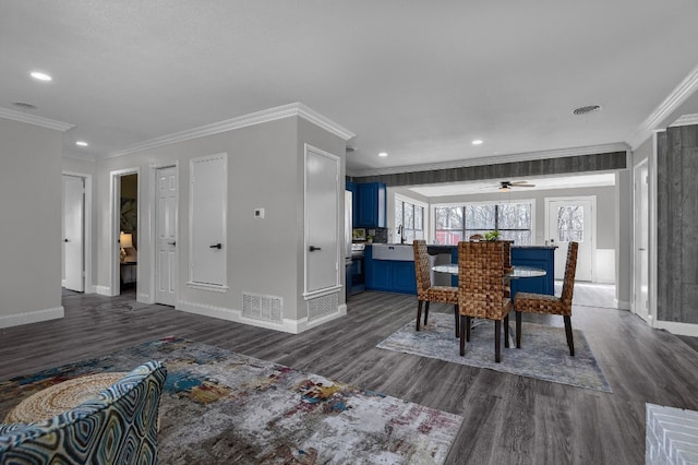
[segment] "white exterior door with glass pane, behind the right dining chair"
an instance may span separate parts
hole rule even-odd
[[[576,281],[593,281],[593,263],[597,253],[593,238],[594,212],[591,199],[545,200],[547,203],[547,238],[555,249],[555,279],[565,276],[567,248],[570,241],[579,242]]]

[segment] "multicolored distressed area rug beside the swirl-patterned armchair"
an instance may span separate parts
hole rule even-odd
[[[168,369],[158,434],[163,464],[438,464],[462,417],[218,347],[166,338],[0,382],[0,418],[22,398],[75,377]]]

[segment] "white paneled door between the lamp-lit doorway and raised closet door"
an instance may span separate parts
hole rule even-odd
[[[158,168],[156,172],[155,205],[155,301],[167,306],[177,303],[177,168]]]

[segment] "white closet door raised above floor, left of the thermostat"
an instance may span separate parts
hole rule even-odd
[[[227,155],[192,159],[190,176],[190,282],[225,286]]]

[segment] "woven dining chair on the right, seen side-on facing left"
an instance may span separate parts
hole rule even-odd
[[[516,347],[521,348],[521,312],[561,314],[565,321],[565,336],[569,355],[575,356],[575,342],[571,334],[571,296],[575,290],[575,272],[577,270],[578,242],[569,242],[563,291],[559,297],[546,294],[517,293],[514,297],[516,312]]]

